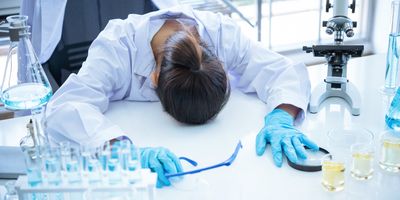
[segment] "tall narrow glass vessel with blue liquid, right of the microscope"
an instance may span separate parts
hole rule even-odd
[[[400,56],[400,0],[392,0],[392,24],[386,57],[384,90],[393,93],[398,86]]]

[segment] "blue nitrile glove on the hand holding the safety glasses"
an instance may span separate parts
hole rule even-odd
[[[140,149],[140,161],[143,168],[149,168],[157,173],[157,188],[171,185],[165,174],[182,172],[179,159],[163,147],[147,147]]]

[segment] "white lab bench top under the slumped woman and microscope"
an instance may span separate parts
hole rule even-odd
[[[318,114],[307,115],[300,129],[323,147],[327,144],[327,131],[342,127],[367,128],[378,141],[385,129],[384,114],[389,103],[389,98],[380,92],[384,71],[385,55],[350,59],[348,77],[360,91],[361,115],[352,116],[344,100],[330,98]],[[309,67],[313,87],[323,81],[326,72],[324,65]],[[157,199],[400,199],[400,174],[386,173],[378,166],[372,179],[355,181],[348,176],[345,190],[332,193],[323,190],[321,172],[297,171],[286,161],[282,168],[277,168],[270,148],[263,156],[256,156],[255,135],[263,126],[265,112],[265,104],[256,96],[233,90],[218,117],[201,126],[177,123],[163,112],[158,102],[111,103],[106,116],[120,125],[136,144],[167,147],[178,156],[196,160],[200,166],[226,160],[238,140],[242,141],[243,148],[233,165],[189,175],[181,184],[200,180],[197,189],[158,189]],[[27,117],[0,121],[1,143],[18,145],[27,121]]]

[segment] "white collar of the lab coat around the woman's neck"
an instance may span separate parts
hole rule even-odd
[[[137,17],[133,16],[133,17]],[[165,10],[159,10],[142,16],[140,23],[135,27],[135,43],[138,50],[136,59],[134,61],[133,72],[144,76],[150,77],[151,72],[155,68],[155,58],[151,48],[151,40],[157,31],[150,30],[150,22],[158,19],[192,19],[196,23],[197,20],[193,14],[193,10],[189,6],[176,6]]]

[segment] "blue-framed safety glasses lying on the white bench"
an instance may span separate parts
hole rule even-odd
[[[210,169],[214,169],[214,168],[218,168],[218,167],[222,167],[222,166],[229,166],[233,163],[233,161],[235,161],[237,154],[239,153],[239,150],[242,148],[242,143],[239,141],[238,144],[236,145],[235,148],[235,152],[233,152],[233,154],[224,162],[216,164],[216,165],[211,165],[208,167],[204,167],[204,168],[200,168],[200,169],[195,169],[195,170],[191,170],[191,171],[187,171],[187,172],[179,172],[179,173],[175,173],[175,174],[165,174],[165,176],[167,178],[171,178],[171,177],[176,177],[176,176],[184,176],[187,174],[196,174],[202,171],[206,171],[206,170],[210,170]],[[197,162],[194,160],[191,160],[189,158],[186,157],[179,157],[179,159],[181,160],[185,160],[187,162],[189,162],[191,165],[193,166],[197,166]]]

